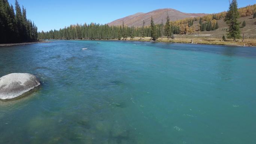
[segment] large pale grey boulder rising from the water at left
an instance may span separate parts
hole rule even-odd
[[[33,74],[11,73],[0,77],[0,99],[13,99],[40,85]]]

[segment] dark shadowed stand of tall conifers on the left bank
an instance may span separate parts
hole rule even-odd
[[[38,39],[37,27],[27,19],[26,9],[15,0],[15,11],[8,0],[0,0],[0,43],[31,42]]]

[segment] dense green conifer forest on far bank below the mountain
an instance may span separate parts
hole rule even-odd
[[[171,25],[171,32],[179,34],[180,29],[177,26]],[[122,26],[110,26],[107,24],[76,24],[70,25],[60,30],[50,30],[39,32],[39,39],[127,39],[127,37],[153,37],[165,36],[163,24],[153,24],[153,27],[142,25],[141,27],[127,27],[124,24]]]

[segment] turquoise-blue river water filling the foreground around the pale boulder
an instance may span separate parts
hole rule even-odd
[[[82,50],[88,48],[88,50]],[[256,48],[54,41],[0,48],[1,144],[255,144]]]

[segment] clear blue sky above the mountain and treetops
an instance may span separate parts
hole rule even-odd
[[[217,13],[228,10],[229,0],[18,0],[27,9],[39,31],[60,29],[70,24],[106,24],[137,12],[173,8],[187,13]],[[238,7],[255,0],[237,0]],[[9,0],[15,3],[15,0]]]

